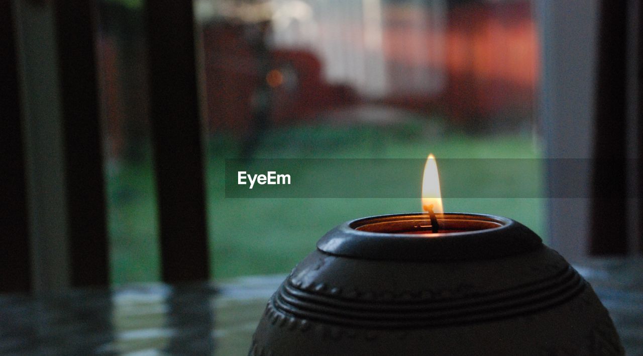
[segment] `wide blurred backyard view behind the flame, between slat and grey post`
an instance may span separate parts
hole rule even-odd
[[[231,198],[226,159],[293,158],[314,174],[312,158],[480,158],[440,172],[445,189],[458,182],[471,193],[446,197],[446,211],[508,216],[545,237],[530,1],[195,5],[216,277],[284,273],[343,221],[421,210],[419,186],[417,198]],[[529,159],[529,169],[491,158]],[[400,175],[374,174],[382,187]]]

